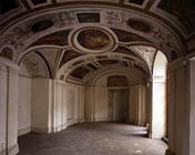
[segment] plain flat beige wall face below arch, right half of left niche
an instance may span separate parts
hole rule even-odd
[[[31,118],[32,131],[38,133],[51,132],[51,80],[32,80],[32,105]]]

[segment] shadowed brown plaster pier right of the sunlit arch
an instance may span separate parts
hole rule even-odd
[[[167,155],[189,154],[188,66],[177,60],[168,64],[168,151]]]

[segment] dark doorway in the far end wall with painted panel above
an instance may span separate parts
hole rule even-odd
[[[129,123],[130,90],[125,76],[109,76],[109,120],[111,122]]]

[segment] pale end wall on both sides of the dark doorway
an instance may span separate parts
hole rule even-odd
[[[107,78],[116,75],[114,73],[98,75],[93,84],[88,83],[85,87],[85,117],[88,122],[111,121],[110,116],[110,96],[107,87]],[[146,85],[142,83],[143,74],[138,71],[132,70],[127,74],[130,89],[130,123],[137,125],[146,125]],[[135,84],[136,83],[136,84]],[[135,85],[134,85],[135,84]],[[113,87],[114,89],[114,87]],[[120,87],[115,87],[120,89]],[[121,87],[124,89],[124,87]]]

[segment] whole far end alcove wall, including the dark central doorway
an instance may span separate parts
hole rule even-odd
[[[123,122],[142,126],[147,124],[146,81],[143,80],[145,73],[135,68],[129,70],[110,68],[89,76],[90,79],[86,78],[89,81],[85,82],[86,121]],[[126,116],[120,108],[115,108],[120,107],[120,102],[126,103]]]

